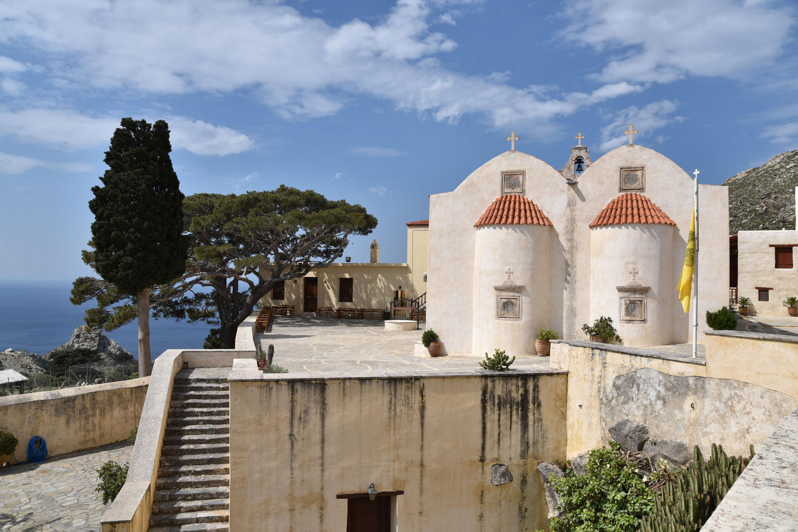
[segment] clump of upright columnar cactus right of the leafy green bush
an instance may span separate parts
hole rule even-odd
[[[700,530],[753,455],[753,445],[749,458],[729,458],[720,445],[712,444],[709,461],[704,462],[696,446],[689,467],[654,498],[654,511],[642,517],[641,532]]]

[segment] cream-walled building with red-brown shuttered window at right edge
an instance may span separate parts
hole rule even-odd
[[[740,231],[737,233],[737,296],[751,299],[749,312],[756,315],[787,315],[781,304],[798,297],[798,247],[792,248],[793,268],[776,268],[776,249],[770,244],[798,244],[798,230]],[[772,288],[768,301],[759,300],[756,287]]]

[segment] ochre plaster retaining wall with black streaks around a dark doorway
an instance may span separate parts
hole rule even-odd
[[[547,526],[535,466],[564,458],[564,374],[231,376],[231,530],[345,530],[344,493],[405,491],[399,530]],[[286,377],[282,377],[286,378]],[[492,464],[513,480],[490,481]]]

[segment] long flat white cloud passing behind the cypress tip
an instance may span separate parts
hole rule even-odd
[[[152,122],[157,118],[147,117]],[[230,155],[251,149],[251,139],[225,126],[183,116],[166,116],[172,132],[172,147],[196,155]],[[8,111],[0,108],[0,136],[18,136],[27,141],[51,144],[69,150],[108,146],[120,118],[83,115],[71,109],[27,108]]]

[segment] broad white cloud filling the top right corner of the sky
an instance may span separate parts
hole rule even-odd
[[[560,32],[614,52],[595,77],[667,83],[685,76],[746,79],[775,64],[791,39],[795,10],[737,0],[571,0]]]

